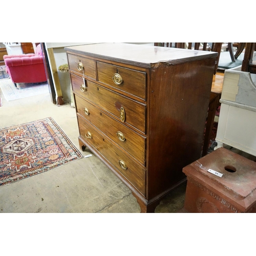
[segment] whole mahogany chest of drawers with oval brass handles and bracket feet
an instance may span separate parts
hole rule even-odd
[[[141,212],[201,157],[217,53],[104,43],[65,48],[81,150],[132,190]]]

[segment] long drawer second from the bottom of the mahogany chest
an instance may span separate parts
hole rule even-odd
[[[146,138],[75,95],[77,113],[145,166]]]

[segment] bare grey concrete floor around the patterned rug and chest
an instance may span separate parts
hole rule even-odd
[[[9,102],[0,97],[0,128],[52,117],[79,149],[76,111],[70,104],[57,106],[49,94]],[[89,150],[81,153],[92,154]],[[179,212],[184,205],[185,185],[163,198],[155,212]],[[0,187],[0,212],[139,213],[140,207],[131,190],[92,154]]]

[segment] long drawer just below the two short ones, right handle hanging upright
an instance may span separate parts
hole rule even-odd
[[[94,102],[106,112],[116,116],[121,122],[130,124],[145,134],[145,104],[115,93],[88,80],[86,80],[86,87],[81,88],[83,79],[74,74],[71,74],[71,81],[73,91],[76,94]]]

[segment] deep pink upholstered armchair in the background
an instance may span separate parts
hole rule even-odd
[[[35,53],[20,55],[4,55],[6,72],[12,82],[37,83],[47,81],[41,46],[36,47]]]

